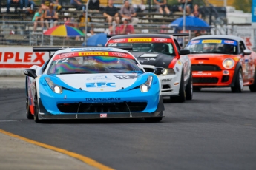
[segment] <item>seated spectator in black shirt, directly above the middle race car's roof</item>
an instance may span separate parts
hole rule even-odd
[[[119,24],[119,13],[117,8],[113,6],[113,0],[108,0],[108,6],[105,7],[103,16],[106,17],[109,26],[111,26],[112,21],[116,21],[116,24]]]

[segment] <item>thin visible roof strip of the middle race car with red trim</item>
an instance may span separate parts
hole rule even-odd
[[[128,35],[114,35],[110,39],[119,38],[171,38],[168,34],[128,34]]]

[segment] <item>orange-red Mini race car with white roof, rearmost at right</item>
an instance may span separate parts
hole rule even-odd
[[[246,47],[243,38],[233,35],[203,35],[188,42],[194,89],[231,87],[242,92],[249,86],[256,92],[256,53]]]

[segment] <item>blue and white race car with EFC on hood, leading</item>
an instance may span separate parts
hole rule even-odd
[[[43,51],[44,48],[34,48]],[[47,48],[56,50],[56,48]],[[130,52],[112,47],[56,50],[42,67],[24,70],[27,118],[163,118],[156,67],[145,72]]]

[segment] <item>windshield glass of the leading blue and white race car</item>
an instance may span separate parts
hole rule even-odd
[[[81,53],[81,52],[79,52]],[[137,61],[116,56],[56,56],[47,74],[143,73]]]

